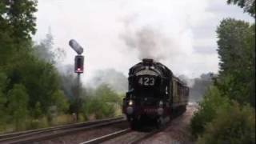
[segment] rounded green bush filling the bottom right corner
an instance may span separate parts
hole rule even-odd
[[[255,143],[255,110],[234,102],[218,110],[216,118],[206,125],[198,144],[252,144]]]

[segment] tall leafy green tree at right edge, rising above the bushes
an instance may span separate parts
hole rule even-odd
[[[255,106],[255,25],[226,18],[218,26],[218,88],[238,102]]]

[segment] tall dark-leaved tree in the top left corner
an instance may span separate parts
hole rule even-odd
[[[0,1],[0,67],[21,61],[31,49],[31,34],[36,31],[36,0]]]

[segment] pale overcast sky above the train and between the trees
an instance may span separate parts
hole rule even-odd
[[[123,74],[141,58],[155,58],[190,78],[218,71],[215,30],[223,18],[253,22],[226,0],[38,0],[37,34],[50,27],[54,46],[66,51],[62,64],[73,64],[76,53],[68,42],[85,49],[85,74],[114,68]]]

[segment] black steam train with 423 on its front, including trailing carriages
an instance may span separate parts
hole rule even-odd
[[[189,88],[162,63],[142,59],[130,68],[128,81],[122,112],[132,128],[145,122],[164,126],[174,115],[186,111]]]

